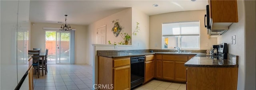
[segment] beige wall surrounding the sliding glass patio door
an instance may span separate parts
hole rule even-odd
[[[41,48],[45,50],[45,30],[43,27],[60,28],[61,24],[54,23],[31,23],[30,50]],[[34,24],[34,25],[33,25]],[[71,25],[75,31],[75,64],[86,63],[86,26]]]

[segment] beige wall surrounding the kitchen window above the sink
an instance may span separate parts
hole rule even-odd
[[[208,39],[204,27],[204,14],[206,10],[172,12],[150,16],[150,49],[162,49],[162,23],[200,21],[200,49],[209,50],[217,44],[216,38]],[[208,46],[206,46],[208,43]]]

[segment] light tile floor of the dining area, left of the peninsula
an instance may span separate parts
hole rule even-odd
[[[92,89],[92,66],[86,64],[48,65],[48,73],[39,76],[34,74],[34,90]]]

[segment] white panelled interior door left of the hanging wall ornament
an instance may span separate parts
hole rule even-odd
[[[97,44],[106,44],[106,25],[97,29]]]

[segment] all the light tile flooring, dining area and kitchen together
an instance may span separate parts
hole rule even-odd
[[[34,90],[92,90],[92,66],[48,65],[48,73],[34,74]],[[186,90],[186,84],[152,80],[134,90]]]

